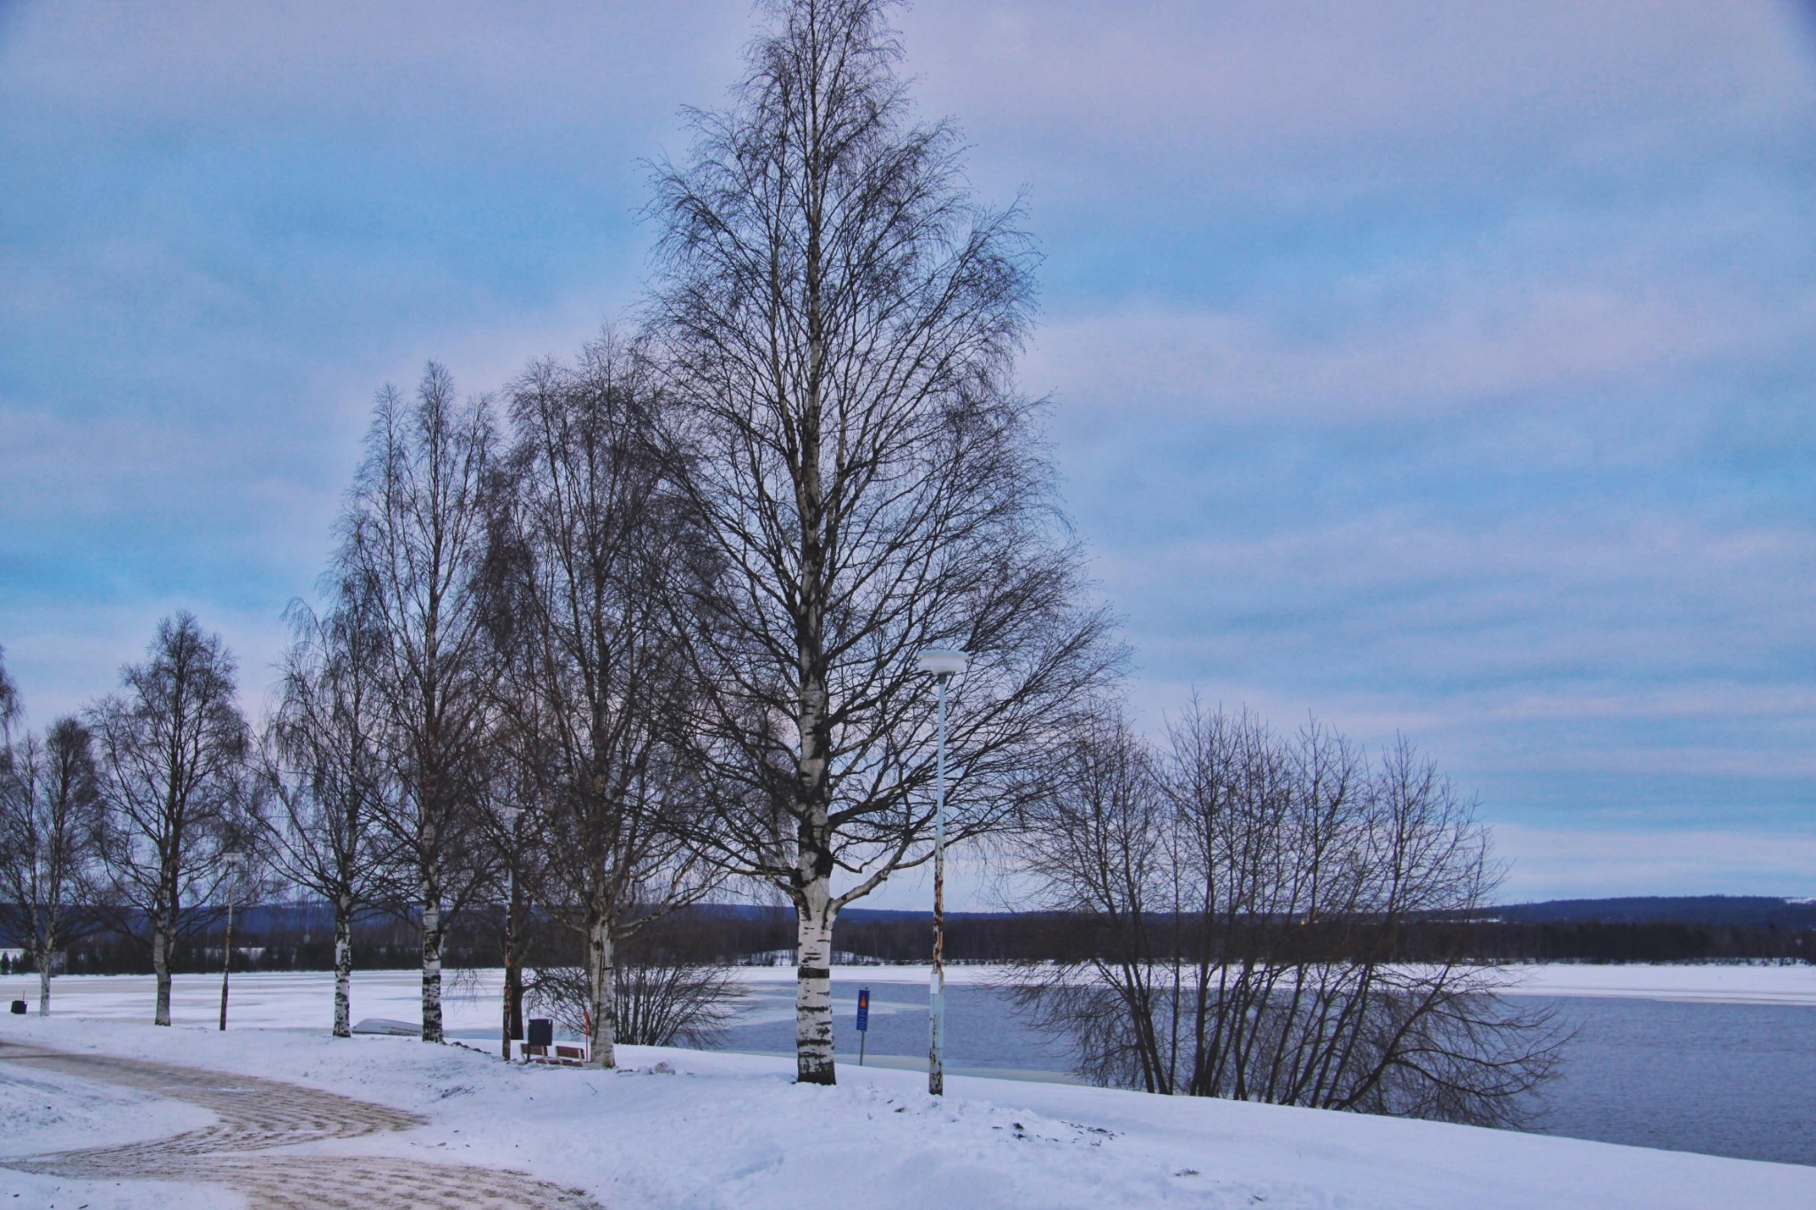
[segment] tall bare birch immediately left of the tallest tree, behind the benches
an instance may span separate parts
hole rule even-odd
[[[714,885],[685,840],[697,691],[665,586],[697,557],[656,455],[659,408],[648,363],[612,334],[577,368],[532,366],[494,559],[499,700],[550,840],[543,905],[585,938],[599,1067],[616,1063],[616,947]]]

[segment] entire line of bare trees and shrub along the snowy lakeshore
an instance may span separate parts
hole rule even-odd
[[[111,925],[169,1025],[178,947],[227,894],[283,887],[332,907],[336,1036],[356,920],[410,922],[441,1041],[449,932],[485,907],[507,1036],[552,925],[610,1067],[648,969],[627,951],[745,896],[794,912],[797,1078],[834,1083],[834,927],[932,856],[915,655],[946,648],[970,657],[946,834],[1090,922],[1091,951],[1022,992],[1084,1070],[1458,1121],[1547,1074],[1558,1038],[1491,971],[1393,961],[1411,920],[1498,878],[1429,760],[1197,704],[1133,729],[1013,379],[1037,252],[968,189],[955,127],[915,116],[888,7],[765,5],[726,107],[652,169],[632,325],[490,394],[439,365],[380,390],[256,726],[191,613],[42,733],[0,675],[0,900],[42,1010],[49,954]]]

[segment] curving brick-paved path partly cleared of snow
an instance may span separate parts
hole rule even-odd
[[[256,1210],[597,1210],[581,1190],[523,1172],[390,1156],[300,1156],[300,1143],[356,1139],[427,1125],[419,1114],[258,1076],[178,1063],[0,1043],[0,1063],[98,1079],[189,1101],[216,1116],[200,1130],[127,1147],[89,1147],[0,1161],[87,1181],[225,1185]]]

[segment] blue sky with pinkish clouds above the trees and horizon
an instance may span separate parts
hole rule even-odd
[[[374,392],[623,316],[745,0],[0,0],[0,646],[263,706]],[[1816,9],[899,15],[1024,200],[1022,385],[1159,729],[1404,735],[1505,900],[1816,894]],[[879,905],[919,902],[904,880]],[[973,894],[975,898],[975,894]]]

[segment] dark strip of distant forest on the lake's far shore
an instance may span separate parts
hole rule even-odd
[[[450,932],[450,967],[494,967],[503,922],[474,909]],[[834,929],[839,961],[926,961],[928,912],[846,909]],[[795,922],[783,907],[696,905],[657,923],[643,943],[665,956],[706,963],[786,963]],[[356,963],[369,971],[421,960],[419,925],[372,912],[354,929]],[[1342,922],[1304,925],[1304,945],[1338,956]],[[1059,912],[957,912],[946,918],[946,958],[961,963],[1077,961],[1095,947],[1095,927]],[[1380,956],[1375,956],[1380,960]],[[1796,961],[1816,958],[1816,903],[1765,896],[1653,896],[1551,900],[1495,907],[1476,918],[1407,923],[1389,961]],[[180,972],[214,971],[220,931],[202,932],[174,954]],[[577,965],[579,934],[539,920],[528,965]],[[234,922],[234,969],[331,971],[334,927],[327,905],[262,905]],[[0,960],[0,972],[25,971]],[[69,974],[145,974],[143,947],[94,934],[69,951]]]

